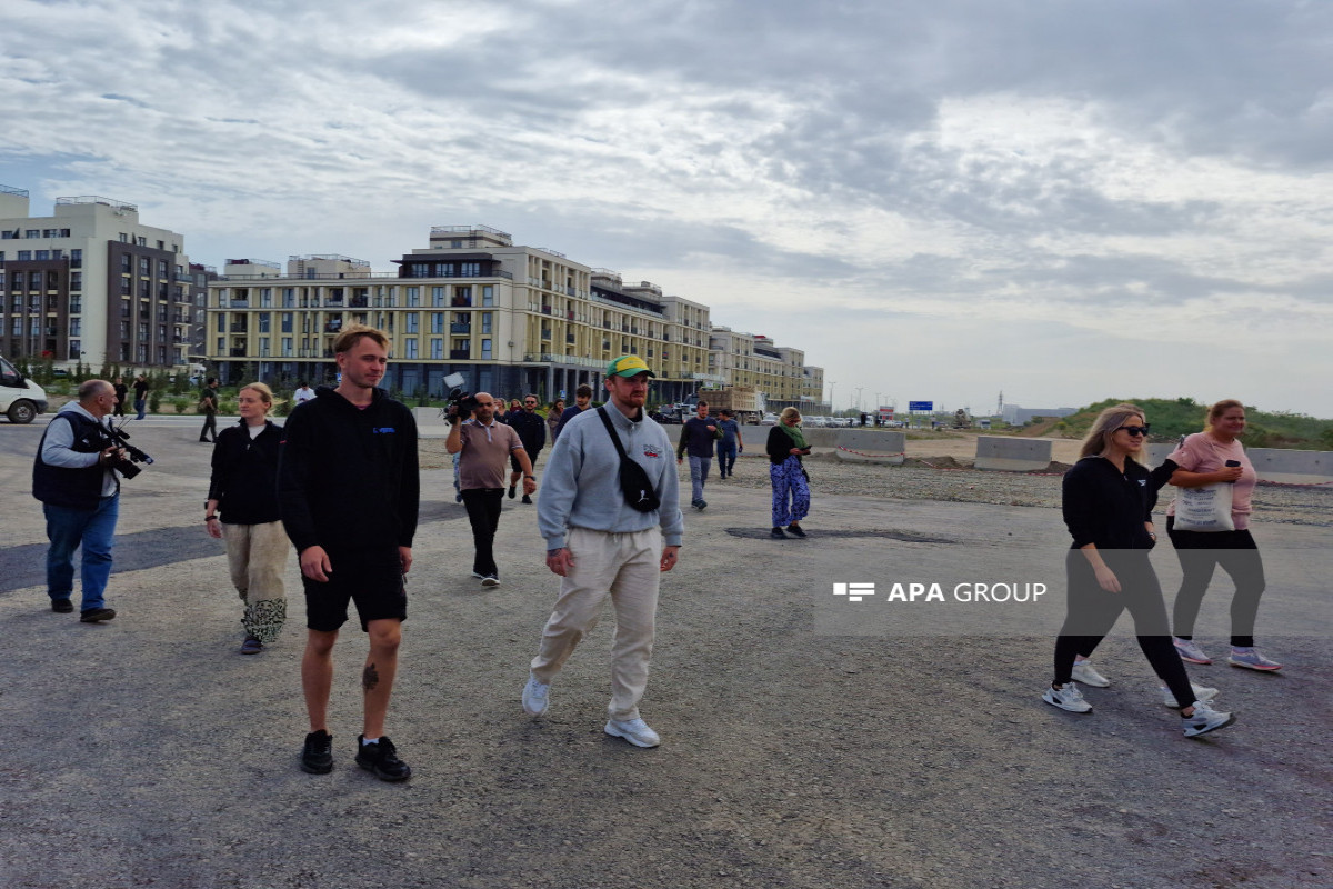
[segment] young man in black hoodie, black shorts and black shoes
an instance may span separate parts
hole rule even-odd
[[[309,628],[301,686],[311,733],[301,769],[333,769],[327,722],[333,644],[353,601],[371,640],[356,762],[384,781],[404,781],[412,769],[384,736],[384,716],[407,620],[404,576],[412,568],[420,481],[412,412],[376,388],[388,347],[384,333],[360,324],[333,341],[341,383],[320,387],[288,419],[277,486],[283,524],[300,553]]]

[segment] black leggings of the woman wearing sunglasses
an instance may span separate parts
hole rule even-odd
[[[1134,618],[1138,648],[1153,672],[1166,684],[1181,708],[1194,702],[1185,665],[1172,645],[1166,629],[1166,602],[1162,588],[1148,561],[1146,549],[1102,549],[1101,557],[1120,581],[1118,593],[1108,593],[1097,582],[1092,565],[1080,549],[1065,557],[1069,582],[1069,612],[1056,638],[1056,685],[1070,681],[1074,656],[1090,656],[1126,608]]]

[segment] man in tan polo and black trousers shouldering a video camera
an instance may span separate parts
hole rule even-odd
[[[472,423],[463,423],[453,416],[444,449],[459,454],[459,486],[463,505],[472,524],[472,576],[481,580],[483,586],[500,585],[500,566],[496,565],[495,538],[500,526],[500,504],[504,496],[504,469],[509,458],[517,460],[523,474],[523,497],[537,489],[532,474],[532,461],[523,449],[523,441],[512,427],[496,420],[496,411],[504,403],[496,403],[487,392],[473,396],[477,401],[472,412]]]

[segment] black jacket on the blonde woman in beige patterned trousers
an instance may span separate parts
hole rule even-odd
[[[217,433],[213,445],[213,474],[208,481],[208,498],[217,501],[217,512],[228,525],[263,525],[277,521],[277,449],[283,427],[267,423],[251,439],[241,420]]]

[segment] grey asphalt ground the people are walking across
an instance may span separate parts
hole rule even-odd
[[[1186,740],[1125,621],[1097,654],[1114,685],[1073,716],[1038,700],[1046,612],[1028,634],[998,606],[958,624],[918,609],[908,633],[892,620],[908,614],[885,601],[897,581],[1058,584],[1057,510],[821,497],[816,477],[809,540],[778,542],[760,533],[761,489],[713,481],[664,577],[644,701],[663,746],[640,750],[601,732],[609,612],[549,714],[523,714],[557,588],[535,509],[505,501],[504,585],[483,592],[448,476],[427,470],[389,718],[415,774],[388,785],[352,762],[355,622],[336,650],[337,766],[296,768],[295,558],[281,640],[239,656],[240,602],[201,522],[197,424],[131,427],[157,461],[125,484],[108,593],[120,616],[81,625],[47,609],[41,584],[27,493],[41,425],[0,423],[0,886],[1333,885],[1330,605],[1310,569],[1326,528],[1265,529],[1261,630],[1272,618],[1285,634],[1261,641],[1288,668],[1192,668],[1238,722]],[[1173,561],[1154,556],[1168,589]],[[832,597],[840,581],[876,582],[878,610],[830,633],[829,609],[850,605]],[[1222,652],[1226,602],[1214,581],[1209,650]]]

